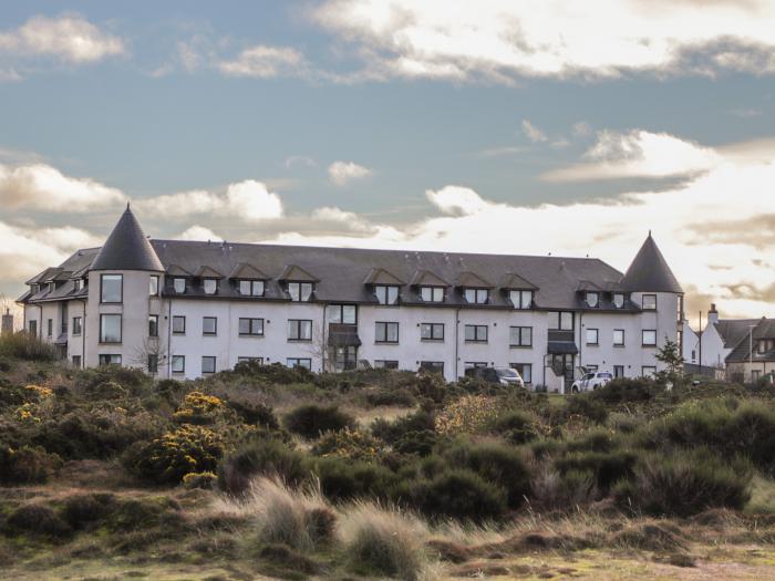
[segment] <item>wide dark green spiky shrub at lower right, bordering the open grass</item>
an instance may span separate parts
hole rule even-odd
[[[620,502],[650,515],[686,517],[709,508],[741,509],[750,498],[751,469],[709,450],[644,455],[632,481],[614,487]]]

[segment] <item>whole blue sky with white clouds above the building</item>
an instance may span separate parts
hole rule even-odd
[[[0,292],[104,239],[599,257],[775,315],[775,0],[7,2]]]

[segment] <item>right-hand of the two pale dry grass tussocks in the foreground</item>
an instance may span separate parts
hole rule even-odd
[[[424,568],[425,528],[416,518],[373,504],[359,504],[342,525],[350,567],[366,577],[416,581]]]

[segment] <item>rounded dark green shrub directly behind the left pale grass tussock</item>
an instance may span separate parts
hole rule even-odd
[[[300,452],[275,438],[252,439],[220,461],[218,487],[240,495],[256,476],[275,476],[289,485],[299,485],[308,474]]]

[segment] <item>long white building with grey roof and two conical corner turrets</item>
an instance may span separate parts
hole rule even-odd
[[[149,240],[127,206],[102,248],[30,279],[24,329],[75,366],[194,378],[245,359],[352,369],[513,366],[562,390],[640,376],[680,342],[683,293],[651,235],[626,274],[591,258]]]

